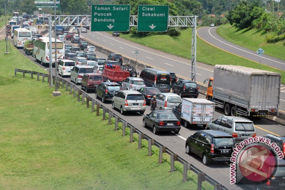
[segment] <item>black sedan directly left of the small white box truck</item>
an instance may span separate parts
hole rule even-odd
[[[159,131],[173,131],[178,134],[180,121],[170,111],[152,111],[143,117],[143,127],[151,127],[154,134]]]

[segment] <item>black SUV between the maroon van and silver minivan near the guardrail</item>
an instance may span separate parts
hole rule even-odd
[[[112,100],[120,89],[121,86],[118,83],[103,82],[96,89],[96,98],[102,98],[102,102],[106,103],[107,100]]]

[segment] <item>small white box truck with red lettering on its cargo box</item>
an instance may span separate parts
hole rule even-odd
[[[182,98],[182,103],[172,109],[185,127],[198,125],[206,127],[213,121],[215,103],[201,98]]]

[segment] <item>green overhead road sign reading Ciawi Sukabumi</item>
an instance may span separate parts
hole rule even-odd
[[[139,5],[137,30],[167,32],[168,9],[168,5]]]

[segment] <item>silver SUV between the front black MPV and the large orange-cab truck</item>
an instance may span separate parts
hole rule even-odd
[[[207,123],[206,129],[225,131],[232,135],[237,143],[256,136],[253,122],[243,117],[221,116],[213,122]]]

